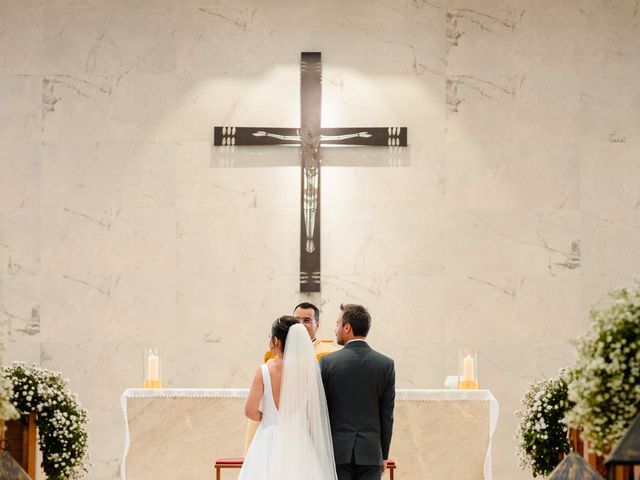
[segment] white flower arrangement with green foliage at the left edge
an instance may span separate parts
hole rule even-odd
[[[11,402],[22,413],[35,412],[42,467],[50,480],[74,480],[87,473],[87,412],[60,373],[14,362],[4,367]]]

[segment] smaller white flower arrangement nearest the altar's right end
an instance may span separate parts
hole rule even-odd
[[[550,380],[532,384],[522,398],[523,410],[516,412],[520,466],[529,468],[534,477],[551,473],[570,450],[564,416],[572,404],[566,376],[561,370]]]

